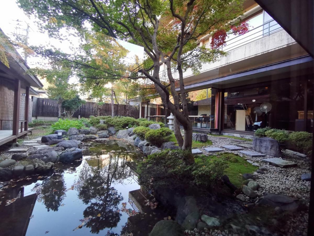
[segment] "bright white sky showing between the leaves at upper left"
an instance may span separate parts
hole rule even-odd
[[[47,45],[51,44],[57,48],[60,48],[64,53],[71,53],[71,47],[77,47],[79,45],[79,39],[75,37],[69,37],[69,41],[63,41],[62,43],[53,38],[49,38],[49,36],[45,33],[41,33],[37,30],[37,25],[35,23],[35,18],[29,18],[24,14],[23,10],[21,10],[15,0],[0,0],[0,28],[3,32],[8,36],[12,37],[14,32],[16,32],[15,27],[20,27],[22,29],[26,29],[27,24],[30,26],[29,31],[29,45]],[[17,21],[19,20],[19,21]],[[17,25],[19,24],[19,25]],[[25,33],[26,31],[20,30],[18,33]],[[65,32],[64,32],[65,33]],[[127,57],[124,59],[126,62],[135,63],[135,55],[138,55],[139,59],[143,59],[144,49],[143,47],[119,41],[120,44],[130,51]],[[19,51],[21,53],[21,51]],[[43,61],[41,58],[33,56],[27,59],[27,64],[34,68],[36,66],[40,66],[40,64],[45,64],[46,61]],[[71,78],[70,83],[76,83],[76,78]]]

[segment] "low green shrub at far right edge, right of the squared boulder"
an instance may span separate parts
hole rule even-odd
[[[296,149],[296,151],[311,155],[312,153],[313,135],[309,132],[292,132],[289,135],[288,143]]]

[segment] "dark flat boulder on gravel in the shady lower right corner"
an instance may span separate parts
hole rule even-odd
[[[258,199],[257,204],[270,205],[272,207],[280,207],[284,211],[295,211],[298,208],[297,199],[287,195],[265,193],[263,197]]]

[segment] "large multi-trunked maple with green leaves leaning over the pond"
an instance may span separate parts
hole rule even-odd
[[[181,149],[192,147],[192,122],[187,109],[183,72],[198,73],[204,62],[214,62],[224,52],[216,47],[198,47],[199,38],[218,30],[230,29],[242,12],[242,0],[18,0],[21,8],[41,20],[43,29],[59,36],[62,28],[74,28],[80,34],[91,24],[97,41],[106,35],[135,43],[144,48],[147,60],[133,73],[111,73],[112,79],[126,76],[148,78],[154,83],[164,106],[175,119],[175,136]],[[173,22],[173,24],[169,24]],[[174,26],[174,27],[173,27]],[[100,35],[100,37],[97,37]],[[101,50],[101,48],[99,48]],[[159,77],[160,60],[166,65],[167,83]],[[109,64],[108,64],[109,65]],[[114,65],[115,70],[119,66]],[[172,72],[176,68],[179,78]],[[122,70],[122,72],[124,72]],[[119,76],[117,76],[119,74]],[[102,76],[101,76],[102,77]],[[179,95],[182,97],[180,109]],[[169,92],[170,87],[170,92]],[[173,97],[173,100],[170,97]],[[184,139],[179,129],[184,128]],[[194,159],[191,158],[191,162]]]

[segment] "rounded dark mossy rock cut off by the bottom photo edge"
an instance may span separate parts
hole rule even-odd
[[[173,220],[162,220],[155,224],[153,230],[149,233],[149,236],[182,236],[183,229],[181,226]]]

